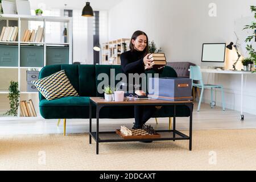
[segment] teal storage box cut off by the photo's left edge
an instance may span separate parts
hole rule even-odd
[[[18,67],[18,46],[0,45],[0,67]]]

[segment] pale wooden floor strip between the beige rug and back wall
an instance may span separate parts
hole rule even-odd
[[[240,112],[234,110],[222,111],[221,107],[210,109],[209,105],[202,104],[200,112],[193,111],[193,130],[221,130],[221,129],[256,129],[256,115],[245,114],[245,121],[240,121]],[[93,119],[93,129],[95,129]],[[133,126],[134,119],[100,119],[100,131],[114,131],[121,125]],[[189,118],[176,118],[177,130],[188,130]],[[158,125],[155,119],[147,122],[156,130],[168,129],[168,118],[159,118]],[[88,133],[89,119],[67,119],[67,134]],[[63,121],[57,127],[57,119],[31,119],[19,120],[7,119],[0,121],[0,135],[23,135],[23,134],[62,134]]]

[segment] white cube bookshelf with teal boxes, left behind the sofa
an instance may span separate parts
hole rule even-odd
[[[65,64],[72,64],[72,18],[70,17],[57,17],[57,16],[30,16],[30,15],[11,15],[11,14],[0,14],[0,20],[6,20],[6,24],[3,21],[2,26],[6,27],[14,27],[9,24],[9,20],[15,20],[15,26],[18,27],[18,34],[16,39],[18,41],[0,41],[0,60],[1,59],[10,59],[9,55],[13,56],[11,61],[13,63],[6,64],[9,61],[0,61],[0,69],[3,72],[8,72],[7,69],[16,69],[15,73],[18,75],[18,89],[20,90],[20,101],[28,101],[32,100],[34,103],[36,114],[38,117],[22,117],[22,110],[18,110],[18,117],[5,117],[1,116],[1,119],[9,119],[9,118],[42,118],[39,113],[39,105],[38,105],[38,92],[26,92],[27,90],[27,80],[26,80],[26,69],[36,69],[40,71],[46,65],[52,64],[62,64],[59,62],[59,59],[56,60],[55,57],[61,55],[61,59],[65,62]],[[28,22],[29,21],[40,21],[42,33],[42,42],[38,39],[37,41],[33,41],[33,39],[28,39],[28,41],[23,40],[24,32],[28,30]],[[46,28],[48,22],[59,22],[59,23],[67,23],[68,35],[67,42],[46,42]],[[32,30],[30,30],[32,31]],[[0,30],[1,34],[2,30]],[[11,31],[10,31],[11,32]],[[14,32],[14,31],[13,31]],[[10,33],[11,34],[11,33]],[[60,32],[61,34],[61,32]],[[29,34],[28,34],[29,35]],[[40,36],[39,36],[40,37]],[[31,37],[32,38],[32,37]],[[2,39],[1,39],[2,40]],[[3,39],[5,40],[5,39]],[[8,39],[7,39],[8,40]],[[12,40],[12,39],[9,39]],[[34,39],[36,40],[36,39]],[[50,40],[50,39],[49,39]],[[51,40],[50,40],[51,41]],[[9,57],[8,57],[9,56]],[[35,64],[34,61],[37,61]],[[6,63],[5,63],[6,62]],[[22,67],[23,66],[23,67]],[[6,69],[6,70],[5,70]],[[0,91],[2,97],[7,97],[9,91],[6,90],[7,83],[4,81],[5,77],[0,77],[0,84],[5,82],[4,87]],[[6,96],[5,96],[6,94]],[[34,102],[35,101],[35,102]],[[4,107],[2,102],[0,101],[0,107]]]

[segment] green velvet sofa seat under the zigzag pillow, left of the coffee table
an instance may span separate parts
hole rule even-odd
[[[56,100],[40,101],[39,107],[44,106],[89,106],[90,97],[63,97]]]

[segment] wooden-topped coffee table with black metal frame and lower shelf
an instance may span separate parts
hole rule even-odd
[[[92,132],[92,106],[96,105],[96,132]],[[99,143],[101,142],[137,142],[148,139],[123,139],[115,131],[100,132],[99,131],[99,118],[100,110],[105,106],[138,106],[138,105],[155,105],[155,106],[174,106],[174,120],[173,130],[157,130],[156,132],[161,135],[160,138],[152,138],[150,140],[189,140],[189,150],[192,150],[192,114],[193,102],[192,101],[164,101],[164,100],[128,100],[125,98],[122,102],[105,101],[100,97],[90,97],[89,104],[89,143],[92,144],[92,138],[96,141],[96,154],[98,155]],[[185,105],[190,110],[189,116],[189,136],[176,130],[176,106]],[[114,108],[113,108],[114,109]]]

